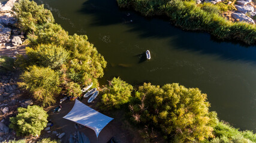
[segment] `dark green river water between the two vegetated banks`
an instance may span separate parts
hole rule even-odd
[[[165,20],[120,10],[115,0],[45,0],[56,23],[88,35],[108,62],[101,83],[114,76],[138,85],[177,82],[207,94],[210,110],[242,130],[256,130],[256,47],[215,41]],[[127,14],[130,14],[127,16]],[[132,20],[132,22],[131,22]],[[144,60],[149,49],[151,60]]]

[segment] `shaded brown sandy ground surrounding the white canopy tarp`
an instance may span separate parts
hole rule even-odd
[[[94,108],[95,103],[88,104],[87,100],[88,98],[83,99],[82,102],[88,105],[89,107]],[[140,133],[138,133],[138,130],[136,131],[132,130],[131,126],[127,121],[123,122],[124,119],[122,117],[122,113],[121,114],[114,113],[112,116],[110,115],[110,117],[113,117],[114,119],[103,130],[101,130],[100,135],[98,136],[98,139],[94,130],[90,128],[87,128],[85,126],[80,126],[78,129],[76,129],[75,128],[76,123],[62,118],[66,114],[68,114],[69,111],[73,108],[74,102],[75,101],[69,101],[69,100],[62,102],[61,111],[57,113],[53,113],[52,108],[57,107],[58,104],[55,107],[50,108],[49,110],[49,119],[52,119],[52,122],[53,122],[52,129],[50,130],[51,131],[56,130],[58,133],[62,133],[62,132],[66,133],[65,136],[62,138],[62,142],[64,143],[68,142],[68,138],[70,137],[70,134],[73,134],[76,130],[79,130],[80,132],[85,133],[85,135],[88,136],[91,143],[103,143],[103,142],[106,143],[113,136],[117,142],[124,142],[124,143],[125,142],[143,142],[143,139],[140,137],[139,135]]]

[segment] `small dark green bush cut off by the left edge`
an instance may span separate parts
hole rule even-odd
[[[8,70],[14,70],[14,59],[7,57],[7,56],[1,56],[0,57],[0,71],[8,71]]]

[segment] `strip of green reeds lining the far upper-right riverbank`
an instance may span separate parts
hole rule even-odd
[[[147,17],[166,15],[171,23],[185,30],[208,32],[223,41],[234,40],[248,45],[256,44],[255,24],[228,21],[219,14],[219,7],[212,3],[204,2],[197,5],[195,1],[180,0],[170,2],[117,0],[117,2],[119,7],[132,8]]]

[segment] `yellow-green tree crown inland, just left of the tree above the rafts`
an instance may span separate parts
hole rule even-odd
[[[38,45],[34,48],[26,47],[26,54],[29,60],[37,66],[50,67],[51,69],[59,69],[62,64],[68,60],[68,51],[62,46],[56,45]]]

